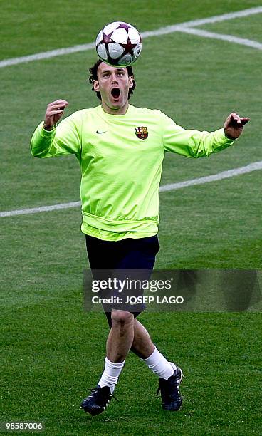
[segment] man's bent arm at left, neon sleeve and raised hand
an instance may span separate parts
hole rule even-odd
[[[80,123],[77,113],[65,118],[56,127],[67,105],[66,100],[56,100],[48,105],[45,120],[38,125],[31,139],[33,156],[80,156]]]

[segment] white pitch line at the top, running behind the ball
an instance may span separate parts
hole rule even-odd
[[[243,9],[243,11],[236,11],[236,12],[230,12],[229,14],[222,14],[222,15],[215,15],[210,16],[206,19],[199,19],[199,20],[191,20],[191,21],[185,21],[184,23],[180,24],[174,24],[172,26],[166,26],[161,27],[159,29],[156,29],[154,31],[146,31],[142,32],[142,38],[150,38],[150,36],[159,36],[159,35],[167,35],[168,33],[173,32],[179,32],[184,31],[185,28],[192,28],[193,26],[201,26],[202,24],[211,24],[211,23],[219,23],[221,21],[241,18],[245,16],[250,16],[253,14],[261,14],[262,13],[262,6],[258,6],[256,8],[249,8],[249,9]],[[214,33],[214,35],[217,35],[218,33]],[[204,35],[201,35],[204,36]],[[211,36],[208,36],[211,38]],[[236,37],[235,37],[236,38]],[[219,38],[216,38],[219,39]],[[236,38],[241,40],[241,38]],[[229,39],[226,39],[226,41],[229,42],[236,42],[236,41],[230,41]],[[247,40],[249,41],[249,40]],[[240,42],[238,42],[240,43]],[[256,43],[256,41],[253,41],[253,43]],[[245,44],[247,45],[247,44]],[[78,53],[79,51],[88,51],[94,48],[94,43],[87,43],[87,44],[81,44],[78,46],[73,47],[67,47],[67,48],[58,48],[57,50],[51,50],[51,51],[43,51],[41,53],[36,53],[29,56],[21,56],[19,58],[10,58],[10,59],[4,59],[4,61],[0,61],[0,68],[4,68],[6,66],[12,66],[17,65],[19,63],[27,63],[32,61],[41,61],[42,59],[48,59],[53,58],[55,56],[62,56],[70,53]],[[249,45],[251,46],[251,45]],[[254,46],[251,46],[254,47]],[[255,47],[257,48],[257,47]]]

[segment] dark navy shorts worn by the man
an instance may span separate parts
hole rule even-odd
[[[140,280],[150,280],[155,257],[159,251],[157,235],[140,239],[127,238],[121,241],[103,241],[85,235],[85,242],[93,279],[105,279],[106,276],[119,278],[124,274],[123,270],[127,270],[129,273],[131,272],[131,275],[132,271],[134,271],[134,279],[138,278],[138,274]],[[130,279],[132,279],[132,276]],[[141,293],[142,290],[140,290]],[[108,290],[101,297],[105,295],[108,297]],[[124,294],[121,295],[124,296]],[[111,310],[112,308],[120,308],[120,306],[111,304],[110,306],[103,305],[103,308],[108,318],[108,324],[111,327]],[[134,308],[135,311],[125,306],[125,309],[122,308],[122,310],[130,311],[136,317],[145,309],[145,305],[140,304],[140,306]]]

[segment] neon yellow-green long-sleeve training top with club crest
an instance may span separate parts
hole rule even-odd
[[[164,152],[209,156],[233,144],[224,129],[185,130],[159,110],[129,105],[125,115],[102,106],[73,113],[51,131],[38,125],[36,157],[74,154],[80,163],[85,234],[105,240],[157,234]]]

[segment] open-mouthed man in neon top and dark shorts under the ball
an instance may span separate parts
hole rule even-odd
[[[208,156],[234,143],[249,118],[231,113],[224,129],[213,133],[184,130],[159,110],[135,108],[128,100],[135,89],[132,68],[114,68],[102,61],[90,68],[90,83],[102,104],[65,118],[68,105],[56,100],[31,140],[36,157],[75,154],[80,162],[83,224],[93,274],[106,270],[146,271],[149,278],[159,250],[159,182],[164,152],[187,157]],[[117,272],[118,271],[118,272]],[[164,410],[179,410],[182,370],[152,343],[136,317],[144,307],[105,309],[110,325],[105,370],[82,402],[91,415],[105,410],[112,398],[130,349],[159,378]]]

